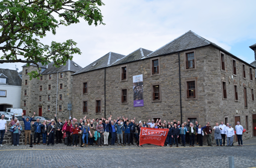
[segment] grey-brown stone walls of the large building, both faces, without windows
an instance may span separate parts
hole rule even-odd
[[[213,46],[206,46],[195,49],[196,70],[185,71],[184,52],[180,52],[181,68],[181,99],[182,99],[182,121],[188,118],[197,118],[201,125],[210,122],[224,121],[234,127],[234,116],[241,116],[241,125],[245,127],[245,116],[249,116],[249,131],[243,138],[252,137],[251,113],[256,108],[251,101],[249,87],[247,87],[248,108],[244,108],[244,97],[242,86],[239,85],[239,102],[234,101],[233,82],[236,83],[241,77],[241,62],[237,61],[237,77],[231,83],[228,76],[232,73],[232,58],[226,54],[226,72],[221,72],[220,51]],[[160,75],[151,76],[151,61],[144,59],[128,63],[128,80],[120,81],[120,65],[106,68],[106,117],[136,117],[137,121],[148,121],[148,119],[160,118],[162,121],[180,120],[180,93],[179,93],[179,71],[178,53],[160,57]],[[246,65],[248,68],[248,65]],[[247,71],[248,72],[248,71]],[[133,81],[134,75],[143,74],[144,106],[134,107],[133,105]],[[253,77],[255,70],[253,70]],[[242,85],[253,82],[242,79]],[[186,80],[197,80],[197,100],[186,100]],[[89,71],[73,76],[73,116],[97,118],[104,117],[104,69]],[[221,80],[227,81],[227,100],[222,100]],[[82,93],[82,83],[87,82],[88,94]],[[151,102],[151,84],[160,83],[161,102]],[[128,104],[121,104],[121,89],[128,88]],[[255,89],[254,89],[255,90]],[[102,100],[102,114],[96,114],[95,100]],[[88,102],[88,113],[82,113],[82,102]],[[239,111],[236,114],[236,110]],[[212,137],[214,138],[214,136]]]

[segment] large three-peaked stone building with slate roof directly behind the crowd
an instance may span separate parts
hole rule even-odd
[[[233,128],[240,121],[247,130],[243,138],[253,136],[255,67],[192,31],[154,52],[105,55],[72,76],[77,118],[224,121]]]

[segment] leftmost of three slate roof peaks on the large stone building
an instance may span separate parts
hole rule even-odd
[[[90,65],[87,65],[86,67],[82,68],[80,71],[77,71],[74,74],[80,74],[80,73],[87,72],[87,71],[92,71],[92,70],[96,70],[96,69],[100,69],[100,68],[105,68],[105,67],[115,63],[116,60],[120,60],[122,57],[125,57],[125,55],[117,54],[117,53],[114,53],[114,52],[109,52],[108,54],[105,54],[103,57],[94,61]]]

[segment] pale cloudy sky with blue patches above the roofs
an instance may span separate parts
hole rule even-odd
[[[81,55],[73,60],[82,67],[108,52],[127,55],[142,47],[151,51],[192,30],[237,57],[251,63],[256,43],[255,0],[103,0],[105,26],[81,23],[60,26],[41,42],[73,39]],[[21,70],[23,63],[0,64]]]

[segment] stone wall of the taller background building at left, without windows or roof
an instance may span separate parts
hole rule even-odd
[[[57,117],[61,120],[65,120],[69,117],[69,111],[67,111],[67,104],[72,103],[72,76],[73,72],[65,71],[63,72],[63,78],[60,78],[60,73],[52,74],[52,79],[49,80],[49,74],[43,75],[43,80],[32,79],[29,80],[29,75],[25,74],[25,69],[28,72],[32,70],[37,70],[35,66],[23,67],[22,73],[22,89],[21,89],[21,102],[20,107],[26,110],[26,115],[32,116],[35,111],[38,116],[39,106],[42,106],[42,116],[54,118],[57,108]],[[57,79],[58,79],[58,103],[56,107],[56,97],[57,97]],[[28,84],[25,85],[25,80],[28,80]],[[63,88],[60,89],[60,83],[63,84]],[[40,85],[42,85],[42,91],[40,91]],[[48,85],[51,85],[51,90],[48,89]],[[24,91],[27,91],[27,96],[24,95]],[[60,100],[59,95],[62,94],[62,100]],[[48,95],[50,95],[50,100],[48,100]],[[41,96],[41,101],[39,101],[39,96]],[[26,100],[26,106],[24,106],[24,100]],[[47,111],[47,106],[50,105],[50,111]],[[59,111],[59,105],[62,105],[62,110]],[[70,112],[72,114],[72,111]]]

